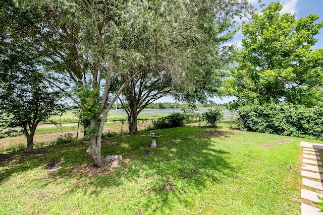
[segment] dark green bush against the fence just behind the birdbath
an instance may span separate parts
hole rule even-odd
[[[153,129],[184,126],[184,120],[184,114],[171,113],[169,116],[161,117],[157,121],[153,122]]]

